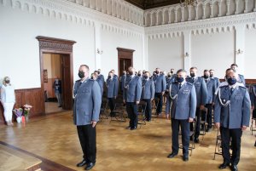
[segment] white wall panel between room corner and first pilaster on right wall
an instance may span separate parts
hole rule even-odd
[[[169,72],[183,68],[183,37],[153,37],[148,38],[148,70]]]

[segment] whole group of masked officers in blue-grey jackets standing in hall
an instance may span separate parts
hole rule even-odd
[[[145,117],[151,120],[151,102],[157,99],[156,114],[162,112],[163,96],[166,94],[166,114],[170,113],[172,120],[172,153],[169,158],[178,153],[178,132],[181,128],[183,144],[183,161],[189,161],[189,132],[195,123],[195,142],[199,142],[201,111],[207,107],[208,129],[212,127],[212,106],[214,106],[214,123],[220,129],[224,162],[220,169],[230,166],[238,170],[240,159],[241,134],[249,125],[251,100],[245,87],[243,76],[237,74],[237,65],[227,69],[225,81],[219,83],[214,77],[214,71],[204,71],[203,77],[198,77],[197,68],[190,68],[190,76],[184,70],[176,74],[165,74],[156,68],[152,77],[148,71],[136,73],[129,67],[128,73],[120,78],[109,71],[107,86],[108,105],[114,110],[114,101],[118,97],[119,83],[123,93],[123,102],[130,118],[127,128],[137,129],[137,106],[141,100],[146,102]],[[96,123],[102,104],[104,77],[100,71],[95,71],[89,77],[89,67],[80,66],[79,77],[74,85],[74,123],[78,127],[79,140],[84,152],[84,159],[78,166],[87,165],[92,168],[96,163]],[[92,78],[92,79],[91,79]],[[85,83],[84,83],[85,82]],[[89,126],[88,126],[89,125]],[[88,134],[88,131],[91,134]],[[92,138],[91,138],[91,137]],[[230,140],[232,155],[230,155]],[[89,144],[89,145],[88,145]]]

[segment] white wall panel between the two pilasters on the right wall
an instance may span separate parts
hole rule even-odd
[[[235,31],[191,35],[191,66],[203,75],[205,69],[215,70],[224,78],[225,70],[235,63]]]

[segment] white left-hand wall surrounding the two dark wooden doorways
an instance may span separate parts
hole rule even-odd
[[[37,36],[77,42],[73,45],[74,81],[79,79],[78,69],[81,64],[90,66],[90,71],[94,71],[97,69],[96,66],[99,66],[96,62],[102,63],[104,75],[107,75],[110,68],[117,69],[117,60],[115,63],[109,62],[109,59],[117,58],[117,54],[114,53],[117,47],[135,49],[135,64],[143,64],[143,38],[139,38],[142,37],[142,26],[108,14],[93,12],[92,9],[80,7],[75,3],[38,3],[40,1],[0,1],[0,78],[11,77],[15,88],[41,86]],[[105,25],[107,22],[111,28],[122,32],[112,32],[107,34],[108,36],[105,36],[105,32],[102,33],[100,40],[104,53],[99,60],[96,60],[96,45],[101,43],[96,43],[96,22],[100,23],[97,26],[101,26],[101,23]]]

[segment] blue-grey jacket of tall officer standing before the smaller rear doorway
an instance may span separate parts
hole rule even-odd
[[[126,102],[136,102],[141,100],[142,96],[142,79],[140,77],[127,75],[125,80],[125,91],[123,99]]]

